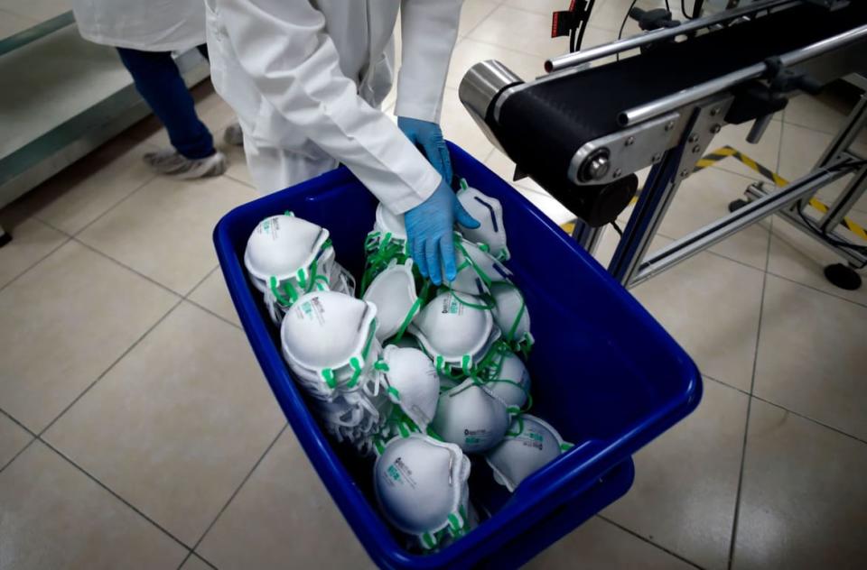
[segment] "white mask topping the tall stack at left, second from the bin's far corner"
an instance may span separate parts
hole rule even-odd
[[[361,380],[376,340],[377,308],[333,291],[308,293],[283,319],[280,337],[287,363],[314,372],[324,389],[349,389]]]

